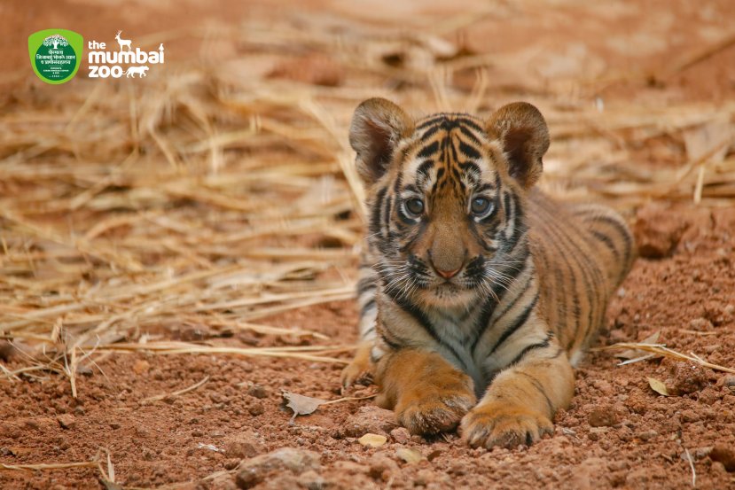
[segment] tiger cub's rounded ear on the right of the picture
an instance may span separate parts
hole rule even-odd
[[[487,127],[490,136],[503,144],[508,173],[530,188],[541,176],[541,159],[549,149],[549,128],[543,115],[527,102],[514,102],[490,116]]]

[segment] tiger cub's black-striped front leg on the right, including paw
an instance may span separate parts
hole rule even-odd
[[[462,419],[462,436],[473,447],[530,445],[553,432],[551,419],[568,406],[574,391],[567,354],[553,342],[497,375]]]

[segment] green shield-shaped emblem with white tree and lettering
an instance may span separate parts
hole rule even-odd
[[[28,36],[28,55],[38,78],[57,85],[74,78],[82,61],[82,35],[66,29],[46,29]]]

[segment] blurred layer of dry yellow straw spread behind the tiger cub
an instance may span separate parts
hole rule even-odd
[[[335,345],[308,319],[274,315],[353,297],[364,191],[347,128],[366,97],[415,113],[486,114],[530,98],[554,139],[547,191],[627,212],[653,198],[732,204],[735,103],[592,103],[610,81],[565,92],[519,81],[512,95],[500,93],[493,74],[512,73],[512,58],[447,41],[478,16],[422,34],[352,20],[323,28],[308,17],[298,27],[229,27],[216,35],[243,53],[236,62],[171,61],[136,83],[78,77],[43,97],[19,89],[22,102],[0,113],[0,336],[16,343],[20,361],[0,363],[0,377],[56,372],[76,394],[80,366],[111,352],[343,362],[341,338]],[[145,42],[184,35],[211,31]],[[332,80],[319,78],[305,51],[328,60]],[[300,80],[255,70],[263,59]],[[473,86],[457,82],[467,74]],[[647,164],[641,148],[656,141],[669,142],[674,163]],[[300,338],[314,350],[171,340],[192,324]],[[145,341],[151,334],[160,340]]]

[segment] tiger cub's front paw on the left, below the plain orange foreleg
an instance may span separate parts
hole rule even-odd
[[[413,396],[404,395],[395,407],[398,423],[412,434],[430,435],[454,430],[473,407],[472,390],[426,386]]]

